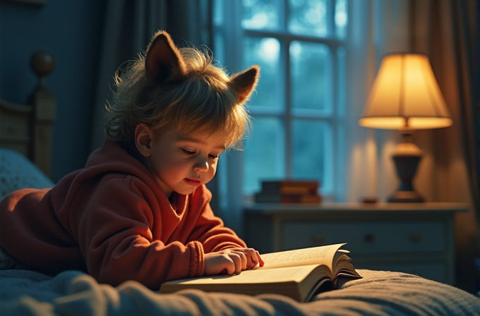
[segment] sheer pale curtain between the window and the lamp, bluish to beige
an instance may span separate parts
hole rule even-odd
[[[399,134],[392,130],[362,128],[357,121],[382,56],[410,50],[408,3],[407,0],[349,1],[347,163],[345,193],[341,200],[359,202],[364,197],[376,197],[385,202],[397,189],[391,152],[399,141]]]

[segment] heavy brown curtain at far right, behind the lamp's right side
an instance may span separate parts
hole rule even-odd
[[[428,54],[440,89],[450,108],[453,126],[419,135],[431,154],[431,169],[419,176],[419,186],[440,202],[468,202],[469,212],[455,219],[457,286],[474,292],[479,285],[475,258],[479,253],[478,157],[475,135],[474,71],[475,0],[412,1],[412,49]],[[478,114],[477,114],[478,115]]]

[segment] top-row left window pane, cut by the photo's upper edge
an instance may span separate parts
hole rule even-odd
[[[242,0],[243,28],[253,30],[277,30],[281,0]]]

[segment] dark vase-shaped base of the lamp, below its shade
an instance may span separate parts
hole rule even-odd
[[[392,158],[395,162],[395,169],[400,178],[400,186],[393,193],[388,202],[394,203],[416,203],[424,202],[424,198],[416,193],[413,186],[413,178],[416,174],[416,167],[424,152],[412,142],[412,130],[401,130],[402,142],[397,145]]]

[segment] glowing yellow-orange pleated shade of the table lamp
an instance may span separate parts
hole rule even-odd
[[[359,125],[388,129],[451,126],[452,119],[428,57],[384,56]]]

